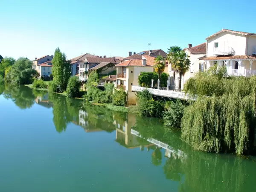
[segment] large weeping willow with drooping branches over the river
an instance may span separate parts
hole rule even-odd
[[[184,110],[181,138],[199,151],[256,152],[256,77],[227,78],[212,67],[185,84],[197,101]]]

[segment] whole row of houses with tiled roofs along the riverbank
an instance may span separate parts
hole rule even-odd
[[[205,38],[206,42],[197,46],[188,44],[183,50],[189,55],[191,65],[181,79],[181,88],[187,79],[193,77],[198,71],[209,69],[214,64],[227,67],[230,76],[256,75],[256,33],[239,32],[222,29]],[[152,72],[154,59],[157,55],[166,57],[162,49],[147,50],[139,53],[129,52],[128,57],[100,57],[92,54],[80,55],[70,59],[72,75],[79,76],[81,81],[86,81],[90,70],[101,70],[103,74],[109,74],[116,70],[116,76],[108,76],[102,79],[105,82],[114,82],[117,88],[122,87],[128,93],[128,104],[136,103],[136,96],[132,93],[131,86],[138,86],[138,76],[141,72]],[[33,68],[38,70],[40,76],[51,74],[52,56],[46,55],[35,58]],[[169,74],[169,89],[178,89],[179,76],[173,79],[171,65],[166,65],[164,72]]]

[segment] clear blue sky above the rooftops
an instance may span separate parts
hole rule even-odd
[[[255,0],[3,0],[0,55],[34,59],[182,48],[221,29],[256,33]]]

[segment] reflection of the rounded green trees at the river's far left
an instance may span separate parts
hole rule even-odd
[[[29,87],[5,84],[1,86],[2,94],[6,99],[11,99],[20,109],[31,108],[35,96]]]

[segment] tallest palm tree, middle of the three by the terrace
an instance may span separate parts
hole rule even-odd
[[[175,53],[181,51],[182,49],[178,46],[172,46],[170,47],[170,49],[168,49],[168,54],[167,54],[167,60],[168,60],[168,64],[170,64],[172,66],[173,69],[173,90],[175,88],[175,75],[177,72],[177,55]]]

